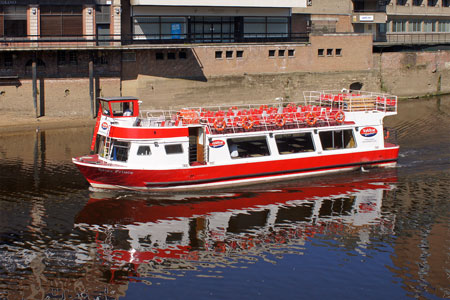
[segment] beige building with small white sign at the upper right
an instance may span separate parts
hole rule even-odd
[[[377,45],[448,44],[449,0],[313,0],[293,14],[309,15],[312,32],[355,32]]]

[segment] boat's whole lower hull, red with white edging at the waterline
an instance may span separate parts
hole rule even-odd
[[[398,147],[381,150],[229,164],[184,169],[143,170],[94,163],[97,155],[74,159],[81,173],[96,188],[131,190],[204,189],[293,179],[301,176],[350,171],[361,167],[396,165]]]

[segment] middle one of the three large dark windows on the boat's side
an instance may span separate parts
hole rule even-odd
[[[311,132],[278,134],[275,136],[275,141],[278,152],[282,155],[315,150]]]

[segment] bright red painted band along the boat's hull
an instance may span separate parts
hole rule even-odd
[[[222,166],[198,166],[174,170],[108,169],[99,165],[77,166],[91,184],[129,188],[194,186],[252,178],[344,169],[395,162],[398,147],[317,157],[272,160]]]

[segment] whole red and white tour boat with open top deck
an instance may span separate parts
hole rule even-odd
[[[311,91],[300,102],[141,111],[134,97],[99,98],[91,155],[73,159],[94,188],[209,189],[392,167],[385,116],[397,97]]]

